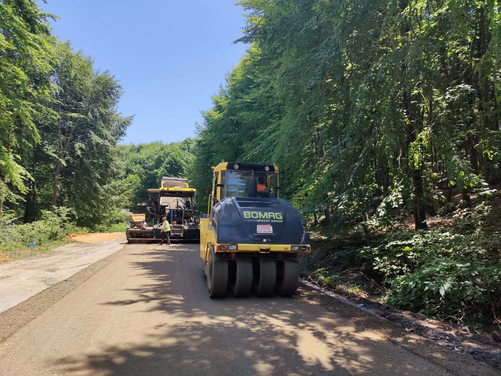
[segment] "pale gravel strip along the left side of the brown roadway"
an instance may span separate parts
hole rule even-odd
[[[46,254],[0,265],[0,312],[120,250],[125,235],[107,241],[63,245]]]

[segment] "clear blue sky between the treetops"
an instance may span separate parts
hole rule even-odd
[[[109,69],[124,89],[119,109],[135,114],[122,143],[194,135],[225,74],[245,52],[235,0],[47,0],[54,33]]]

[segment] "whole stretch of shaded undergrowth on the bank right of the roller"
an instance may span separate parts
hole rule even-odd
[[[302,275],[344,296],[451,321],[472,332],[501,329],[501,192],[460,195],[414,230],[405,212],[391,222],[309,223],[312,253]],[[353,296],[353,295],[352,295]]]

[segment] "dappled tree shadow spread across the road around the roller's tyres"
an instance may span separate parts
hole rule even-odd
[[[105,303],[165,312],[165,322],[141,333],[148,340],[63,357],[54,365],[61,372],[107,375],[437,373],[432,364],[364,329],[364,321],[374,318],[340,319],[305,299],[304,291],[290,298],[210,299],[204,275],[187,252],[192,260],[199,257],[189,247],[138,253],[146,259],[133,266],[151,283],[128,289],[133,299]]]

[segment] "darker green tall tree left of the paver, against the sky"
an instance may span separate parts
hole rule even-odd
[[[87,195],[89,189],[103,185],[107,175],[116,174],[112,166],[116,143],[131,121],[116,110],[122,87],[107,71],[94,71],[90,56],[59,42],[54,60],[57,118],[48,124],[52,134],[47,133],[55,156],[53,207],[61,186],[74,203],[83,196],[79,188],[86,186]]]

